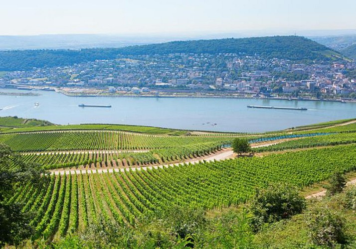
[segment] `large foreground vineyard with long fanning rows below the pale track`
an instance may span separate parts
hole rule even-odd
[[[18,189],[10,202],[34,211],[35,238],[53,240],[103,217],[135,226],[172,205],[205,209],[245,202],[256,187],[289,182],[299,187],[335,171],[356,169],[356,145],[287,152],[169,168],[49,177],[44,187]]]

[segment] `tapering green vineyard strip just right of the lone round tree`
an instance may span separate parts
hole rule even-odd
[[[278,144],[259,147],[253,149],[255,152],[287,150],[297,148],[310,148],[317,146],[333,146],[339,144],[356,143],[356,132],[337,133],[322,136],[299,138],[296,140],[284,141]]]

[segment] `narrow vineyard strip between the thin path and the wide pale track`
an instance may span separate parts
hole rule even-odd
[[[36,162],[45,169],[75,168],[124,168],[154,165],[201,157],[221,149],[214,142],[190,144],[179,147],[154,149],[151,151],[68,151],[25,153],[24,161]]]

